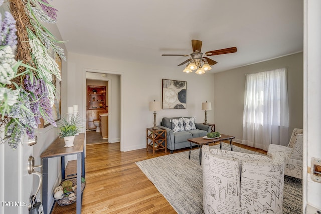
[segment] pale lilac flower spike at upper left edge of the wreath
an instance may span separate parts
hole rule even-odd
[[[17,44],[16,20],[8,11],[5,11],[5,18],[0,27],[0,45],[9,45],[11,47],[15,46]]]

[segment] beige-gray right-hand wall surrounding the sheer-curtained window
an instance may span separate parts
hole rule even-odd
[[[289,100],[289,136],[294,128],[303,128],[303,53],[280,57],[214,74],[214,123],[217,131],[243,136],[245,74],[287,68]],[[289,138],[290,139],[290,138]]]

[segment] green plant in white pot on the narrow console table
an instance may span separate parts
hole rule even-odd
[[[60,130],[60,137],[64,138],[65,147],[72,147],[74,146],[75,135],[80,132],[77,127],[78,120],[77,117],[71,116],[68,118],[62,118],[58,122],[58,127]]]

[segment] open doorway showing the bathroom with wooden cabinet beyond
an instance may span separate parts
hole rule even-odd
[[[85,145],[120,142],[122,147],[120,139],[123,133],[121,130],[123,73],[83,69],[83,80],[83,115],[86,115],[86,120],[83,122],[83,127],[86,128]],[[99,124],[99,132],[96,132],[97,124]],[[108,131],[107,135],[106,133],[102,135],[102,131]]]

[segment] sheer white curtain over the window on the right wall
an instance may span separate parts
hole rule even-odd
[[[246,75],[242,143],[263,150],[288,144],[286,69]]]

